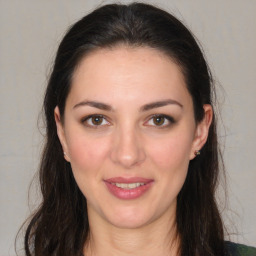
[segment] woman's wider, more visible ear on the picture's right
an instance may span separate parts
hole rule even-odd
[[[197,124],[195,137],[193,141],[193,145],[190,152],[190,160],[195,158],[195,152],[200,150],[207,141],[209,127],[212,123],[213,110],[210,104],[205,104],[204,108],[204,118],[203,120]]]

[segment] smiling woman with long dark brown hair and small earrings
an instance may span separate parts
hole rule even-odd
[[[46,90],[43,201],[26,255],[255,255],[224,242],[213,96],[172,15],[106,5],[74,24]]]

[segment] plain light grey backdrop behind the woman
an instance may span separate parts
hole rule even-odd
[[[256,1],[144,2],[172,12],[201,42],[223,119],[230,199],[223,217],[237,233],[232,240],[255,246]],[[14,255],[15,235],[30,212],[28,188],[43,142],[37,121],[58,43],[69,25],[102,3],[110,1],[0,0],[0,255]],[[34,192],[31,200],[33,208],[40,196]]]

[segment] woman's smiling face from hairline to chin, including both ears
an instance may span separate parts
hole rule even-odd
[[[180,68],[146,47],[97,50],[76,69],[58,135],[89,218],[141,227],[175,218],[176,200],[211,122],[194,120]],[[93,217],[94,216],[94,217]]]

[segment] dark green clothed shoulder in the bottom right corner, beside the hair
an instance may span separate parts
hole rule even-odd
[[[255,247],[232,243],[229,241],[225,242],[225,246],[231,256],[256,256]]]

